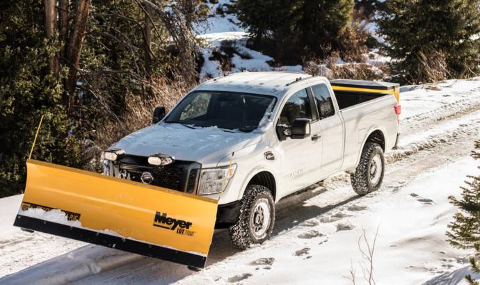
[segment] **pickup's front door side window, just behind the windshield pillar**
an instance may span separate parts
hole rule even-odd
[[[306,89],[291,95],[285,103],[282,113],[280,113],[278,124],[290,127],[299,118],[312,119],[312,108],[310,108],[310,100]]]

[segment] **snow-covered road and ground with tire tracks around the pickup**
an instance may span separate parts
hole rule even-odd
[[[479,172],[468,154],[480,138],[480,79],[447,81],[439,89],[401,93],[402,140],[387,155],[381,190],[359,197],[342,173],[283,199],[271,241],[237,252],[227,231],[216,231],[202,272],[23,233],[10,226],[21,197],[0,199],[0,284],[351,284],[351,267],[362,284],[358,238],[365,229],[371,241],[377,227],[377,284],[422,284],[441,274],[454,279],[454,270],[467,266],[467,252],[445,242],[455,211],[447,197],[460,193],[467,174]]]

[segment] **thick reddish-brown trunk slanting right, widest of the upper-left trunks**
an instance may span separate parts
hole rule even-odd
[[[75,22],[70,33],[70,44],[67,48],[67,60],[70,64],[67,78],[67,92],[69,96],[68,111],[73,111],[75,102],[75,89],[77,87],[77,74],[80,63],[81,47],[85,35],[86,22],[90,13],[90,0],[79,0],[77,3],[77,11]]]

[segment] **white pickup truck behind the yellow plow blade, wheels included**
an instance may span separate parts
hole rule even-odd
[[[104,174],[218,199],[239,248],[269,238],[275,202],[341,171],[380,188],[399,139],[395,83],[241,72],[191,90],[104,156]],[[112,155],[113,154],[113,155]]]

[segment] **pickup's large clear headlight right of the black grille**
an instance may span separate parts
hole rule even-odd
[[[198,195],[209,195],[221,193],[227,188],[228,182],[232,179],[237,164],[225,166],[224,168],[209,168],[202,170],[200,174],[200,187],[198,187]]]

